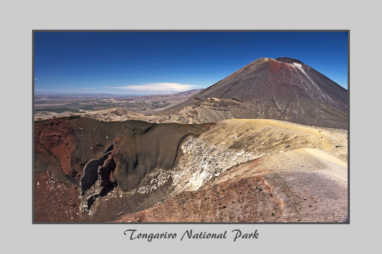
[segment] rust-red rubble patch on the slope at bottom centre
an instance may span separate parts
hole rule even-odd
[[[281,214],[282,201],[257,176],[183,192],[115,222],[275,222]]]

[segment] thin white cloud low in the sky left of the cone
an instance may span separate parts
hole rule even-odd
[[[135,91],[167,91],[170,93],[172,91],[187,91],[193,89],[194,85],[186,85],[186,84],[177,84],[177,83],[147,83],[142,85],[129,85],[129,86],[121,86],[114,87],[119,89],[128,89]]]

